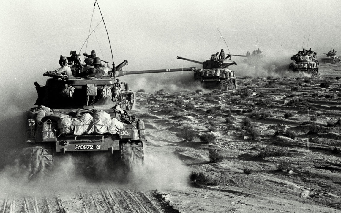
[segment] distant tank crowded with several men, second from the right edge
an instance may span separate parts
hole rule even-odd
[[[294,61],[289,65],[289,69],[294,72],[302,71],[310,74],[311,76],[319,75],[318,72],[318,60],[316,59],[316,52],[303,55],[296,54],[290,58],[290,60]]]

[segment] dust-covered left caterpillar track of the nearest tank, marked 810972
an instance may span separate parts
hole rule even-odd
[[[39,179],[48,175],[54,161],[52,146],[49,144],[35,145],[30,148],[30,151],[29,179]]]

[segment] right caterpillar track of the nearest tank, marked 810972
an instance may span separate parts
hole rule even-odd
[[[121,159],[128,168],[143,163],[143,143],[142,141],[120,142]]]

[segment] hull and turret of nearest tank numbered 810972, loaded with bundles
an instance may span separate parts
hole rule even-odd
[[[143,163],[144,122],[127,111],[134,94],[108,73],[68,78],[49,71],[45,85],[34,82],[37,107],[26,111],[30,178],[53,169],[64,155],[85,159],[77,164],[85,169],[103,156],[109,168]]]

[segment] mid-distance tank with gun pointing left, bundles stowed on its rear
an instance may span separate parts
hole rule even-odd
[[[204,88],[220,89],[222,91],[234,90],[236,88],[236,76],[234,71],[227,67],[237,65],[231,60],[207,60],[199,62],[177,56],[182,59],[197,64],[202,64],[203,68],[194,70],[194,79],[199,81]]]

